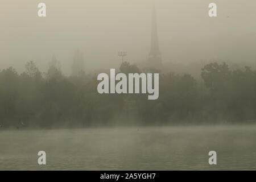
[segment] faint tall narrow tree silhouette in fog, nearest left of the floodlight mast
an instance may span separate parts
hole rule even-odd
[[[76,49],[75,55],[73,57],[73,64],[71,67],[71,75],[78,76],[81,73],[84,73],[84,59],[79,49]]]

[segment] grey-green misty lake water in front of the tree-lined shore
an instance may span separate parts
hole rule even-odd
[[[211,150],[217,165],[208,163]],[[0,170],[16,169],[255,170],[256,126],[0,130]]]

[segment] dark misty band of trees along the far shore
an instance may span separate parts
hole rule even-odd
[[[123,63],[123,73],[152,72]],[[106,71],[108,73],[109,71]],[[256,120],[256,71],[230,70],[225,63],[201,69],[203,81],[191,75],[160,73],[159,98],[148,94],[99,94],[97,75],[64,76],[50,65],[42,73],[34,61],[18,74],[0,72],[0,126],[88,127],[168,125],[179,123],[248,123]]]

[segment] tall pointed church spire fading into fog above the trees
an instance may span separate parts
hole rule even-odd
[[[159,50],[158,43],[158,28],[156,23],[156,12],[155,5],[152,10],[152,25],[151,25],[151,47],[148,57],[148,62],[150,67],[161,68],[162,67],[162,57]]]

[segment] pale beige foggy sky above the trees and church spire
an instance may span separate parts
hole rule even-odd
[[[37,15],[38,3],[47,17]],[[208,16],[217,3],[216,18]],[[156,0],[163,63],[201,59],[256,60],[255,0]],[[23,71],[35,60],[42,71],[52,55],[70,73],[73,51],[84,53],[85,69],[117,67],[118,51],[131,63],[147,59],[151,0],[1,0],[0,69]]]

